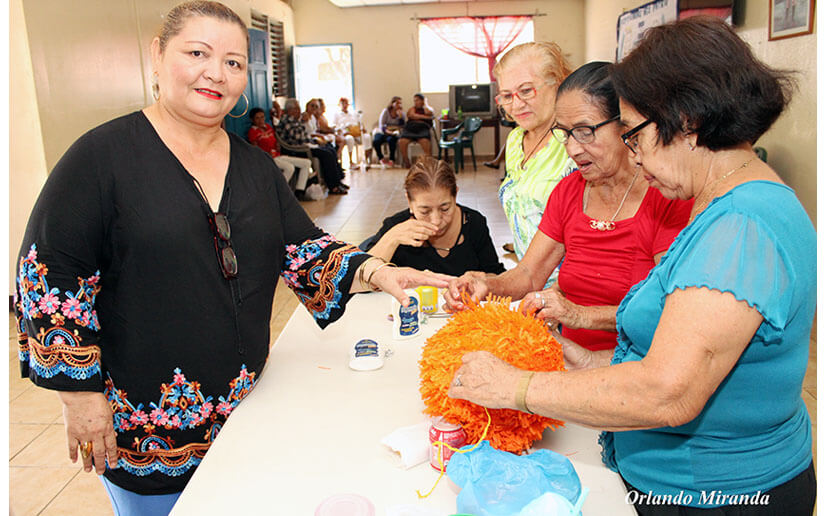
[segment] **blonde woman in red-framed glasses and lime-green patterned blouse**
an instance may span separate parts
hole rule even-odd
[[[496,102],[518,124],[507,137],[506,175],[498,195],[519,260],[538,230],[550,192],[576,168],[550,132],[556,90],[570,71],[559,46],[549,42],[515,46],[493,68]]]

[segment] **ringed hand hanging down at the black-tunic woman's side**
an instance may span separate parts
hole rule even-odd
[[[92,453],[82,457],[83,469],[98,475],[106,471],[106,459],[110,468],[117,467],[117,439],[112,426],[112,407],[101,392],[59,393],[63,402],[63,421],[66,425],[66,442],[69,458],[77,462],[78,446],[91,443]]]

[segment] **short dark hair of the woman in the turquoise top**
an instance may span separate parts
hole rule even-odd
[[[793,72],[756,59],[733,29],[710,16],[648,29],[611,75],[619,97],[656,123],[662,144],[686,131],[710,150],[756,142],[795,87]]]

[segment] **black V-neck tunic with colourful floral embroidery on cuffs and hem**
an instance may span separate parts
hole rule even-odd
[[[141,112],[71,146],[21,248],[22,373],[106,395],[120,456],[105,475],[137,493],[183,489],[253,388],[279,274],[323,327],[368,257],[312,223],[269,155],[229,138],[219,211],[236,279],[221,272],[211,209]]]

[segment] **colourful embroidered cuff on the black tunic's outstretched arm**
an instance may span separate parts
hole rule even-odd
[[[327,247],[334,245],[322,258]],[[307,310],[316,319],[328,319],[332,310],[341,308],[341,280],[349,270],[353,256],[364,254],[352,245],[325,235],[317,240],[307,240],[300,246],[286,246],[286,262],[281,276]]]

